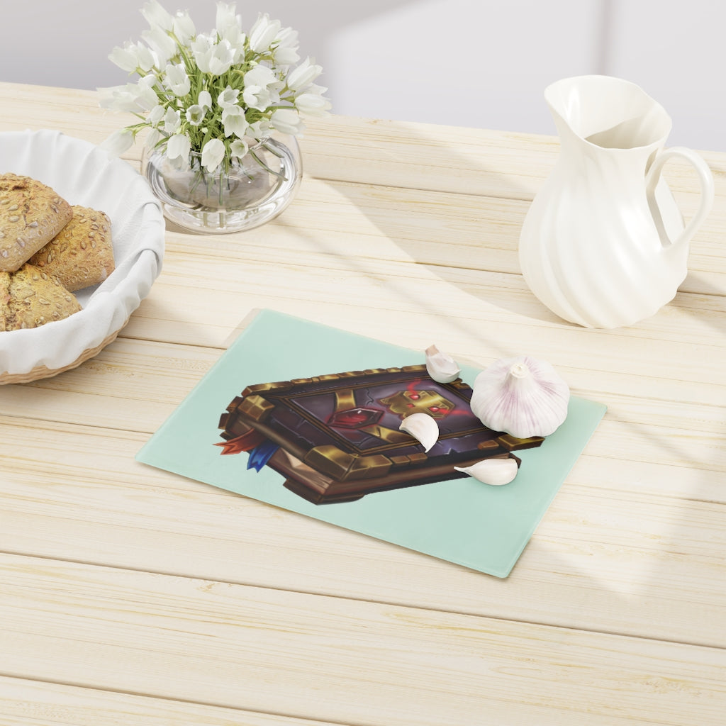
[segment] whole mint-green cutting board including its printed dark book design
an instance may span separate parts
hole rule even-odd
[[[468,386],[435,383],[423,362],[422,351],[258,311],[136,460],[279,508],[261,524],[273,539],[275,528],[293,523],[282,513],[290,512],[506,577],[605,407],[570,396],[555,433],[514,441],[472,417]],[[331,371],[351,372],[319,375]],[[471,383],[479,372],[462,366],[461,380]],[[422,410],[438,416],[439,441],[428,452],[399,431],[402,416]],[[521,460],[505,486],[454,470],[496,456]],[[227,515],[226,499],[218,502],[203,487],[194,496]],[[245,502],[236,510],[261,511]],[[314,549],[338,547],[334,532],[309,532]],[[236,556],[258,551],[242,546]],[[377,566],[380,557],[386,550],[375,550],[368,564]]]

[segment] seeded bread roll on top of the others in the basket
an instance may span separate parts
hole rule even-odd
[[[70,204],[36,179],[0,176],[0,272],[15,272],[70,221]]]

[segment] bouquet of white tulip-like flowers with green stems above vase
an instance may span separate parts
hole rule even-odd
[[[148,129],[147,147],[177,168],[189,168],[197,152],[205,172],[226,173],[272,131],[296,136],[303,115],[327,115],[327,89],[314,83],[322,68],[310,58],[298,64],[298,34],[279,20],[260,15],[244,33],[235,5],[218,2],[216,28],[197,33],[188,12],[171,15],[157,0],[141,12],[150,26],[144,42],[109,56],[139,80],[99,89],[102,107],[141,120],[115,131],[102,144],[109,152],[123,153]]]

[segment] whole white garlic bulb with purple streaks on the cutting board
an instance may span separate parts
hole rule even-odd
[[[567,417],[570,389],[546,361],[502,358],[474,380],[471,410],[485,426],[518,439],[549,436]]]

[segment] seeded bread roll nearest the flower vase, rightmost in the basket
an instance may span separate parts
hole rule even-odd
[[[28,262],[58,278],[71,292],[103,282],[114,269],[111,220],[74,205],[73,218]]]

